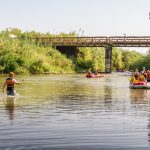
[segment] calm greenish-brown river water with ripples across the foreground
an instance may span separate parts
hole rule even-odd
[[[150,148],[150,90],[129,76],[21,78],[17,98],[0,94],[0,150]]]

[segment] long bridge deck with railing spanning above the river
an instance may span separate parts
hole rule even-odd
[[[111,36],[111,37],[52,37],[36,38],[42,44],[76,47],[150,47],[150,36]]]

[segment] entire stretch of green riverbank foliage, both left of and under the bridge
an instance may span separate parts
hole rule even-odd
[[[105,71],[105,48],[79,48],[78,56],[67,58],[56,49],[44,45],[37,37],[75,37],[82,33],[70,32],[38,33],[22,32],[17,28],[8,28],[0,33],[0,72],[8,73],[71,73],[93,70]],[[150,53],[143,56],[135,51],[113,48],[112,69],[150,68]]]

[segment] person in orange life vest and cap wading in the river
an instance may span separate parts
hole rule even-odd
[[[9,77],[5,80],[5,83],[3,85],[3,92],[5,90],[5,86],[7,86],[7,95],[16,95],[14,85],[15,84],[20,84],[21,82],[18,82],[17,80],[14,79],[15,74],[13,72],[9,73]]]

